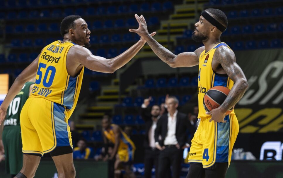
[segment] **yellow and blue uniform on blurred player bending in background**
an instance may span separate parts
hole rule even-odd
[[[115,135],[113,132],[113,126],[115,124],[111,124],[109,130],[104,131],[105,137],[115,144]],[[121,130],[120,134],[120,144],[118,147],[118,155],[122,162],[128,162],[134,158],[134,151],[136,150],[136,146],[134,145],[133,141],[127,136],[125,132]]]

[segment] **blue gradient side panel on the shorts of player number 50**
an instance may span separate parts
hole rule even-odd
[[[70,145],[67,131],[67,123],[64,121],[64,112],[65,108],[62,105],[54,103],[53,115],[57,146]]]

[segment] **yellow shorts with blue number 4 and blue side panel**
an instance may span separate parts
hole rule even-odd
[[[231,161],[231,154],[236,141],[239,124],[235,114],[226,115],[226,123],[209,122],[211,117],[201,118],[200,124],[192,139],[189,152],[189,163],[202,163],[203,168],[214,163]]]

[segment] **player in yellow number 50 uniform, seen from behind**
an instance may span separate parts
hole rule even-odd
[[[76,107],[84,66],[93,71],[113,73],[130,61],[146,42],[141,38],[119,56],[105,59],[93,56],[84,47],[90,46],[90,33],[80,16],[64,18],[61,22],[64,39],[42,49],[16,78],[1,104],[0,124],[12,99],[25,82],[36,75],[31,96],[21,111],[23,168],[15,177],[34,177],[40,158],[45,153],[52,156],[59,178],[75,177],[68,119]]]

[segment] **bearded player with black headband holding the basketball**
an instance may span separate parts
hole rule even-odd
[[[148,33],[144,17],[136,16],[141,26],[130,29],[146,39],[154,53],[171,67],[192,67],[199,65],[198,99],[200,124],[192,139],[189,153],[190,169],[187,178],[223,178],[231,160],[231,151],[239,132],[235,113],[225,116],[227,110],[242,98],[248,82],[236,63],[235,54],[220,41],[228,20],[219,9],[206,9],[195,24],[192,39],[204,46],[194,52],[174,55],[158,44]],[[206,113],[202,104],[205,92],[214,86],[224,86],[230,90],[224,103]],[[212,122],[214,121],[214,122]]]

